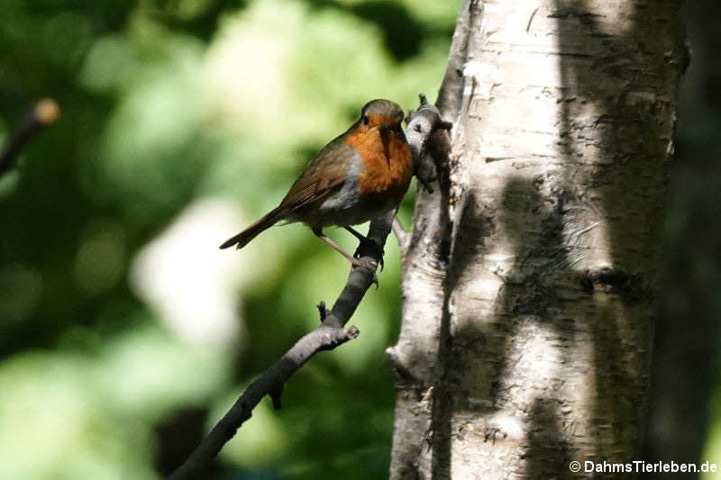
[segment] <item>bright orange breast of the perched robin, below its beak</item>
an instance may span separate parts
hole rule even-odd
[[[390,132],[387,139],[384,143],[379,129],[370,129],[351,133],[345,142],[358,151],[366,168],[358,176],[359,194],[400,202],[413,176],[413,160],[404,140]]]

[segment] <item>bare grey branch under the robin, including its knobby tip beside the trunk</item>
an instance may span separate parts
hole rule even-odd
[[[406,128],[406,136],[414,155],[415,164],[421,161],[415,157],[424,151],[424,142],[434,129],[440,128],[437,125],[443,123],[438,110],[431,104],[424,104],[423,98],[418,111],[411,113]],[[416,129],[416,125],[420,128]],[[415,131],[411,132],[411,130]],[[217,456],[225,443],[233,438],[242,423],[251,418],[253,408],[265,395],[269,395],[273,406],[279,409],[283,386],[287,379],[297,372],[298,368],[303,367],[306,361],[317,352],[335,349],[348,340],[358,337],[360,331],[354,326],[346,329],[345,324],[351,320],[363,295],[376,279],[375,270],[382,259],[383,246],[386,244],[395,217],[396,212],[393,211],[370,222],[367,238],[379,248],[368,249],[369,251],[360,259],[364,260],[366,265],[373,267],[351,269],[351,275],[348,276],[345,287],[333,304],[333,309],[328,312],[323,302],[317,305],[321,324],[298,340],[275,365],[260,374],[245,389],[233,407],[225,413],[221,421],[218,421],[185,463],[179,466],[178,470],[173,472],[169,478],[185,480],[200,477],[205,467]]]

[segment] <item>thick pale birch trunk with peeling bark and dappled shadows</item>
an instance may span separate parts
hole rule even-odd
[[[389,351],[391,478],[640,459],[685,62],[680,2],[463,5],[452,152],[418,195]]]

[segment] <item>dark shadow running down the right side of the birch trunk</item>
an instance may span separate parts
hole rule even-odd
[[[658,252],[668,190],[669,164],[664,158],[671,141],[668,122],[675,108],[675,98],[663,95],[675,92],[679,63],[686,61],[677,21],[680,7],[636,3],[632,18],[642,21],[610,36],[586,2],[558,1],[556,5],[560,50],[568,53],[561,56],[560,67],[569,203],[598,208],[607,224],[611,265],[607,272],[589,272],[585,279],[599,313],[589,317],[597,392],[595,459],[638,460],[646,421],[659,292]],[[580,29],[588,32],[582,38]],[[574,55],[583,51],[580,42],[589,39],[595,39],[600,56]],[[649,91],[660,95],[649,96]],[[587,110],[581,99],[593,104],[596,118],[592,125],[582,118]],[[580,132],[589,127],[601,133],[591,153],[595,149],[603,160],[590,175],[580,175],[581,169],[574,166],[583,162],[589,151],[588,140]],[[697,462],[699,453],[653,459]]]

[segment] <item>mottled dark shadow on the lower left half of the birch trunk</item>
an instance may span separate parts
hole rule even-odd
[[[461,322],[451,331],[449,318],[443,319],[439,358],[443,378],[434,401],[434,478],[450,478],[452,437],[466,434],[462,418],[479,414],[490,419],[482,432],[484,441],[504,439],[507,431],[494,428],[494,414],[507,406],[507,390],[516,388],[509,369],[524,362],[524,345],[529,338],[550,335],[559,353],[551,375],[562,376],[570,364],[569,351],[576,339],[573,319],[561,314],[558,305],[562,288],[569,278],[580,282],[580,275],[569,269],[572,260],[562,240],[562,202],[548,207],[538,192],[539,185],[522,177],[511,178],[495,208],[478,203],[469,192],[459,217],[459,233],[452,252],[446,292],[453,292],[466,267],[478,263],[485,239],[507,236],[512,241],[516,263],[510,271],[498,272],[503,280],[494,307],[493,322],[479,328],[478,322]],[[529,220],[530,219],[530,220]],[[472,273],[469,273],[472,275]],[[445,312],[449,312],[446,297]],[[479,362],[479,358],[481,361]],[[477,366],[482,365],[482,368]],[[516,393],[534,408],[525,419],[524,433],[528,469],[523,475],[533,478],[557,477],[568,472],[570,442],[561,435],[562,417],[556,387],[539,395],[531,386]],[[516,397],[518,398],[518,397]],[[452,430],[452,419],[456,430]],[[560,468],[563,466],[563,468]],[[561,478],[563,478],[561,476]]]

